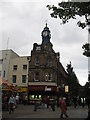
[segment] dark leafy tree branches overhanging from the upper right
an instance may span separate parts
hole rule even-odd
[[[78,21],[77,24],[82,29],[90,26],[90,1],[89,2],[61,2],[58,3],[58,7],[54,5],[47,5],[49,10],[52,10],[51,17],[59,17],[62,20],[62,24],[66,24],[70,19],[76,19],[77,16],[84,17],[84,22]],[[88,27],[90,33],[90,27]],[[89,44],[89,43],[88,43]],[[83,45],[83,55],[90,57],[90,53],[87,52],[87,44]],[[87,52],[86,52],[87,51]],[[88,55],[87,55],[88,54]]]

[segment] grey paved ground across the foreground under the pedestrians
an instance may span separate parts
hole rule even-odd
[[[55,111],[52,111],[50,108],[39,108],[37,111],[34,111],[33,105],[18,105],[14,110],[14,113],[9,114],[9,111],[2,112],[2,118],[60,118],[61,110],[56,107]],[[73,106],[68,107],[67,114],[69,118],[87,118],[88,108],[85,106]]]

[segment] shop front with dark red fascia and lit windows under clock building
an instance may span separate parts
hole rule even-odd
[[[35,100],[41,101],[42,98],[55,99],[57,95],[57,87],[50,85],[29,85],[28,97],[29,102],[34,103]]]

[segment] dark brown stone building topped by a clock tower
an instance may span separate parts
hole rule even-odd
[[[66,84],[67,73],[60,63],[59,53],[53,50],[53,45],[50,42],[51,34],[47,24],[41,35],[42,43],[34,43],[31,51],[29,94],[55,95],[58,86],[62,87]],[[46,92],[46,87],[50,91]]]

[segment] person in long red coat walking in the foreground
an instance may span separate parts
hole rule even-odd
[[[60,101],[60,107],[61,107],[61,115],[60,115],[60,118],[63,118],[64,115],[66,117],[68,117],[67,113],[66,113],[66,110],[67,110],[67,106],[66,106],[66,98],[63,97]]]

